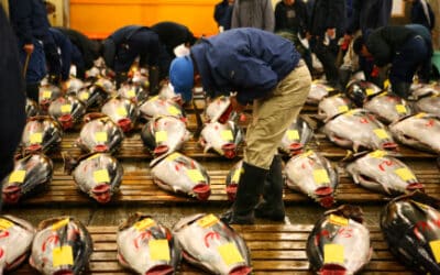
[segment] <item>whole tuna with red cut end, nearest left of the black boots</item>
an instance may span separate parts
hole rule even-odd
[[[204,166],[180,153],[161,156],[150,164],[153,180],[158,187],[184,193],[199,200],[211,195],[209,175]]]

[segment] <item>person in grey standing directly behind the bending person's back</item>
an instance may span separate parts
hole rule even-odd
[[[275,30],[275,14],[271,0],[235,0],[231,29],[256,28],[267,32]]]

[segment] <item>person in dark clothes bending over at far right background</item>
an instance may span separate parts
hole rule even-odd
[[[392,64],[389,81],[393,92],[407,99],[417,70],[420,82],[428,82],[431,69],[432,42],[422,25],[388,25],[366,32],[353,45],[356,54],[372,57],[383,67]]]

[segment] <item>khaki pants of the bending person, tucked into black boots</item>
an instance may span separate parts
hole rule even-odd
[[[244,162],[268,169],[279,142],[301,110],[310,91],[310,73],[300,61],[271,96],[254,100],[253,121],[246,131]]]

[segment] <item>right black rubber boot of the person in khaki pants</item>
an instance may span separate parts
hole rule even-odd
[[[255,217],[270,219],[273,221],[283,221],[285,217],[283,201],[283,166],[282,157],[274,156],[271,169],[264,182],[263,201],[255,208]]]

